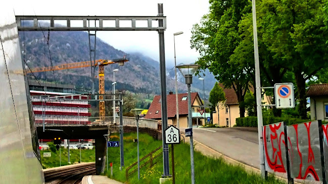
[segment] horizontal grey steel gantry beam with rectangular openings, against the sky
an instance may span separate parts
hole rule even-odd
[[[33,21],[32,25],[23,21]],[[39,26],[38,21],[49,23]],[[66,25],[63,24],[66,21]],[[96,21],[91,27],[89,21]],[[129,27],[121,27],[120,21],[131,21]],[[136,22],[147,21],[147,27],[137,27]],[[153,21],[163,21],[163,25],[153,24]],[[166,16],[16,16],[18,31],[161,31],[166,29]]]

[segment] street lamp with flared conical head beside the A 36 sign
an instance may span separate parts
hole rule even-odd
[[[188,86],[188,127],[193,130],[193,120],[192,120],[192,100],[190,94],[190,87],[193,83],[193,75],[199,68],[199,65],[179,65],[176,66],[179,69],[183,77],[185,78],[185,84]],[[192,134],[193,135],[193,134]],[[194,143],[193,136],[190,136],[190,161],[192,170],[192,184],[195,184],[195,166],[194,166]]]

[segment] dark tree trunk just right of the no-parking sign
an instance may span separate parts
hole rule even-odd
[[[306,115],[306,96],[305,96],[305,79],[300,71],[295,71],[295,80],[297,86],[297,98],[299,100],[298,112],[302,119],[307,119]]]

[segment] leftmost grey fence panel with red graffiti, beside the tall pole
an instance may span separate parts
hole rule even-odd
[[[286,143],[284,122],[263,127],[265,170],[286,172]]]

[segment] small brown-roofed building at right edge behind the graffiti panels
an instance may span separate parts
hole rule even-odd
[[[310,97],[311,119],[328,121],[328,84],[311,84],[306,96]]]

